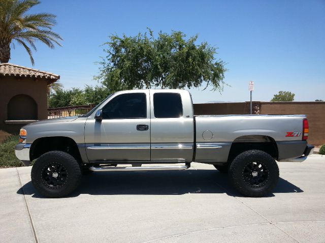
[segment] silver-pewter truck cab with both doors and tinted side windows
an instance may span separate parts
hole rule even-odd
[[[84,134],[90,162],[190,162],[194,147],[190,94],[117,92],[87,116]]]

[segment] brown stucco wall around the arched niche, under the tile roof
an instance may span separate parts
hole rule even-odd
[[[8,119],[8,103],[16,95],[25,94],[37,105],[38,119],[47,118],[47,80],[30,77],[0,76],[0,130],[19,133],[23,125],[5,124]]]

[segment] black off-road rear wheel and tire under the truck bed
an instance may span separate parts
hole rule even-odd
[[[261,197],[275,188],[279,179],[279,167],[270,154],[261,150],[248,150],[233,160],[229,176],[240,193]]]

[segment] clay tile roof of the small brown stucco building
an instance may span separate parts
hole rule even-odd
[[[60,79],[60,76],[54,73],[45,72],[37,69],[32,69],[29,67],[23,67],[11,63],[1,63],[0,64],[0,76],[20,76],[20,77],[40,77],[52,79],[55,82]],[[53,80],[54,79],[54,80]]]

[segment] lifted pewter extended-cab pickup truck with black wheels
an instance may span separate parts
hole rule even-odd
[[[62,197],[90,172],[184,170],[192,162],[228,173],[246,196],[271,193],[277,161],[302,161],[305,115],[194,115],[185,90],[129,90],[87,114],[41,120],[20,130],[15,147],[42,195]]]

